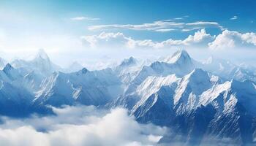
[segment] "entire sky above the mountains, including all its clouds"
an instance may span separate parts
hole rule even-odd
[[[132,55],[139,49],[165,54],[178,47],[252,51],[255,7],[253,0],[2,0],[0,55],[25,56],[38,48],[73,58],[113,57],[121,50]]]

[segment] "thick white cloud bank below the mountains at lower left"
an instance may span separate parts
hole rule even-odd
[[[156,145],[167,131],[142,125],[124,109],[53,108],[56,116],[13,120],[2,118],[0,145]]]

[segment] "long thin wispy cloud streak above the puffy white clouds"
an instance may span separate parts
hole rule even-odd
[[[129,29],[136,31],[192,31],[202,28],[220,28],[222,26],[217,22],[210,21],[197,21],[192,23],[182,23],[175,22],[173,20],[159,20],[154,21],[153,23],[143,23],[143,24],[109,24],[109,25],[98,25],[98,26],[89,26],[90,31],[94,30],[108,30],[108,29]]]

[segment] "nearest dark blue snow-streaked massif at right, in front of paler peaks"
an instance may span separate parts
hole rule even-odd
[[[252,142],[248,137],[252,137],[255,129],[252,120],[256,116],[255,97],[252,81],[225,80],[194,69],[181,78],[175,74],[149,76],[115,104],[127,107],[141,123],[176,129],[176,136],[167,135],[165,142],[182,135],[180,142],[193,145],[208,137],[219,141],[229,137],[241,145]],[[251,120],[245,124],[248,119]]]

